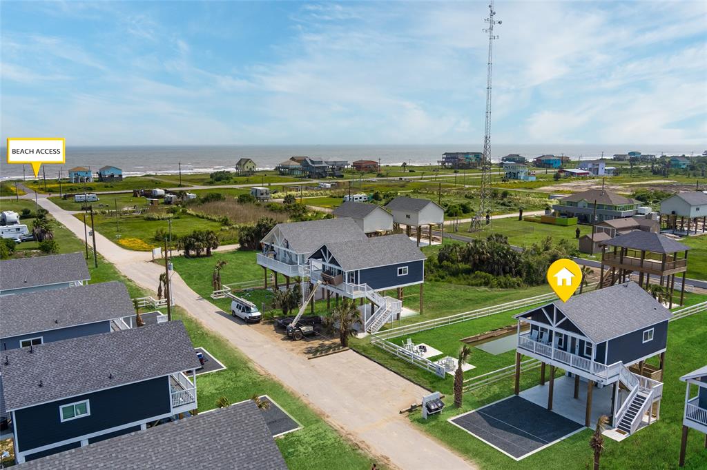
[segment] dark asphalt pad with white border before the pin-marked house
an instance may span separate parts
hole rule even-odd
[[[520,460],[584,426],[521,397],[510,397],[449,419],[475,438]]]

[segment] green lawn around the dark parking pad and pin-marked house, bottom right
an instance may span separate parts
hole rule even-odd
[[[623,442],[614,442],[605,438],[602,468],[677,468],[685,396],[685,385],[678,378],[704,366],[704,344],[706,343],[707,313],[693,315],[670,324],[660,420]],[[476,350],[472,352],[472,363],[474,354],[477,354]],[[521,381],[521,387],[535,385],[538,375],[537,370],[535,373],[527,373]],[[425,421],[419,413],[414,413],[411,414],[411,420],[460,454],[473,459],[482,468],[566,470],[591,468],[592,450],[588,444],[591,430],[583,430],[520,462],[515,462],[446,421],[457,414],[508,397],[511,393],[513,393],[513,380],[502,380],[490,387],[466,394],[461,409],[456,409],[452,405],[453,397],[448,395],[445,398],[448,406],[440,416]],[[703,446],[704,435],[697,432],[690,433],[686,469],[707,467],[707,452],[704,451]]]

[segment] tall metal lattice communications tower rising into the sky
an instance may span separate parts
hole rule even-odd
[[[493,66],[493,40],[498,36],[493,35],[493,25],[500,25],[501,21],[495,19],[493,0],[489,4],[489,28],[484,32],[489,33],[489,61],[486,63],[486,125],[484,126],[484,157],[481,159],[481,187],[479,188],[479,211],[474,222],[469,226],[469,231],[483,229],[491,224],[491,68]]]

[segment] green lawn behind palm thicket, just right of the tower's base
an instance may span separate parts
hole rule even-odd
[[[518,220],[518,217],[508,217],[506,219],[495,219],[491,221],[491,229],[469,233],[469,224],[461,224],[457,234],[468,236],[469,238],[486,238],[490,234],[502,234],[508,237],[508,243],[516,246],[530,246],[532,243],[541,241],[546,236],[551,236],[554,241],[559,239],[571,239],[573,243],[578,243],[575,239],[575,230],[579,227],[580,236],[591,233],[588,225],[572,225],[562,227],[560,225],[540,224],[538,222],[527,222]]]

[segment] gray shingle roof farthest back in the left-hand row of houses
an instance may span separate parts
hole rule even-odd
[[[0,261],[0,291],[90,279],[83,253]]]

